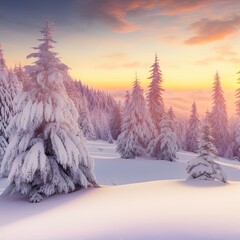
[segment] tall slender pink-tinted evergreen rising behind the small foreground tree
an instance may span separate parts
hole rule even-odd
[[[211,112],[211,125],[213,130],[214,145],[220,156],[224,156],[228,146],[228,118],[226,102],[218,73],[213,84],[213,108]]]

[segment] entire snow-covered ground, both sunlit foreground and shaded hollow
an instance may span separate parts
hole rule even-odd
[[[240,163],[220,159],[228,184],[184,181],[187,161],[126,160],[89,142],[101,188],[38,204],[0,196],[0,240],[239,240]],[[6,180],[0,180],[0,193]]]

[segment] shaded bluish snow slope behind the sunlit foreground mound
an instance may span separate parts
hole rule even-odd
[[[177,162],[152,159],[122,159],[115,153],[115,145],[106,142],[89,142],[89,151],[95,159],[95,174],[104,185],[120,185],[155,180],[185,179],[187,162],[197,155],[177,153]],[[229,180],[240,181],[240,162],[219,159]]]

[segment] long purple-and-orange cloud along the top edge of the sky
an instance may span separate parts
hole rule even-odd
[[[227,3],[237,1],[229,0]],[[78,3],[80,16],[88,22],[104,23],[114,32],[134,32],[141,28],[129,20],[128,17],[134,14],[144,16],[144,13],[153,9],[165,15],[190,12],[209,5],[224,4],[226,0],[78,0]]]

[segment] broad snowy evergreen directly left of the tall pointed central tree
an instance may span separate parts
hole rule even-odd
[[[131,98],[123,111],[123,124],[117,140],[117,152],[122,158],[145,155],[149,141],[154,138],[154,132],[155,127],[146,108],[143,89],[136,78]]]

